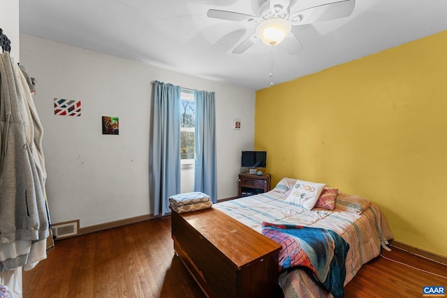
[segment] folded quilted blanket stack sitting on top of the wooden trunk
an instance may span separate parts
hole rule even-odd
[[[170,196],[169,206],[177,213],[183,213],[210,208],[212,202],[209,195],[195,191]]]

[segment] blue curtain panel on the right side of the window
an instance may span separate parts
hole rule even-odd
[[[216,112],[214,92],[194,90],[196,102],[196,164],[194,191],[210,195],[217,202]]]

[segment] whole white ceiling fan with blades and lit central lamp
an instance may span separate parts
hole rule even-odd
[[[338,0],[303,10],[291,11],[291,7],[296,1],[267,0],[261,3],[258,15],[210,9],[207,16],[220,20],[258,24],[256,32],[233,49],[234,54],[245,52],[259,40],[263,40],[266,45],[279,45],[290,33],[295,38],[284,40],[284,48],[289,54],[295,54],[302,50],[302,45],[298,39],[299,25],[348,17],[356,5],[356,0]]]

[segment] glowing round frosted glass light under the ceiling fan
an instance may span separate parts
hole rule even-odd
[[[281,18],[268,19],[256,28],[256,37],[263,40],[266,45],[279,45],[289,33],[292,25],[288,20]]]

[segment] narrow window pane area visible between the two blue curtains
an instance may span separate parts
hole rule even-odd
[[[182,165],[194,163],[194,129],[196,125],[196,103],[194,92],[182,89],[180,97],[180,158]]]

